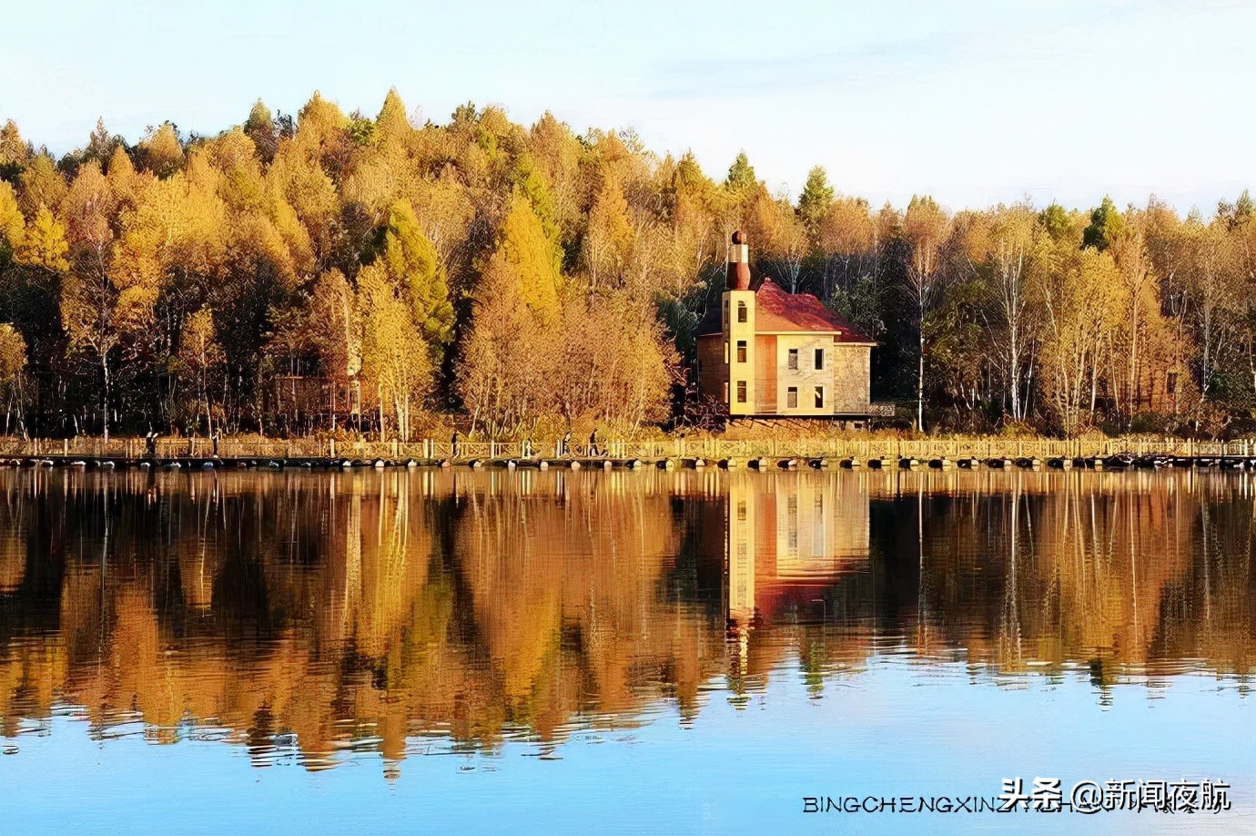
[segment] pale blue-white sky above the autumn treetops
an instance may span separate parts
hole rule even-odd
[[[952,209],[1152,192],[1186,211],[1256,186],[1256,4],[237,3],[43,0],[3,13],[0,121],[63,153],[97,117],[134,142],[295,112],[315,89],[421,119],[460,102],[634,128],[722,179]]]

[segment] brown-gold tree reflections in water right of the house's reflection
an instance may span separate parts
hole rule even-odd
[[[941,489],[926,499],[921,587],[943,646],[1009,670],[1030,660],[1156,669],[1203,659],[1247,671],[1256,632],[1247,476],[938,475],[903,474]],[[888,490],[891,508],[914,505],[916,488]],[[1218,575],[1225,583],[1212,582]],[[1218,607],[1226,639],[1212,641],[1221,634],[1207,613]]]

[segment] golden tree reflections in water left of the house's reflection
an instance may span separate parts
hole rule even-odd
[[[659,595],[678,546],[664,476],[520,475],[119,474],[106,509],[93,474],[72,495],[21,474],[39,481],[5,512],[0,625],[23,634],[0,636],[5,729],[63,695],[102,730],[220,724],[260,761],[291,733],[313,767],[354,738],[391,759],[425,730],[558,738],[659,695],[692,715],[718,635]],[[36,600],[10,561],[58,531],[95,548]],[[44,630],[9,617],[41,610]]]

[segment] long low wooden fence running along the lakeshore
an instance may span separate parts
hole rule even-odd
[[[588,444],[571,444],[563,449],[560,441],[534,443],[529,450],[520,441],[460,441],[457,449],[448,441],[423,439],[399,441],[333,441],[330,439],[264,439],[217,443],[216,455],[224,459],[686,459],[703,458],[752,459],[767,458],[833,458],[844,459],[958,459],[1036,456],[1039,459],[1108,456],[1120,453],[1133,455],[1173,456],[1256,456],[1256,439],[1233,441],[1194,441],[1191,439],[761,439],[732,441],[726,439],[662,439],[609,440],[590,450]],[[3,456],[83,456],[84,459],[142,459],[146,456],[142,437],[114,437],[106,443],[98,437],[30,439],[0,437]],[[215,455],[210,439],[158,439],[157,458],[207,458]]]

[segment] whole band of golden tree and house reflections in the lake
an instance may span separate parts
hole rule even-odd
[[[1253,503],[1181,471],[0,471],[0,728],[74,705],[394,776],[695,723],[785,660],[813,698],[885,654],[1246,693]]]

